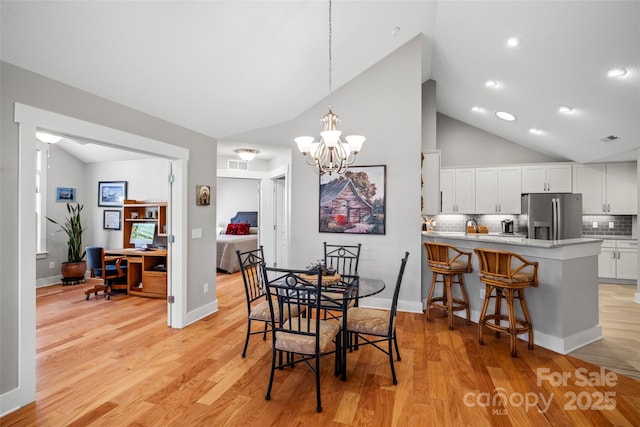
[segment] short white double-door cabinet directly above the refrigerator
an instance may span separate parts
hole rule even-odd
[[[523,193],[571,193],[570,163],[549,163],[522,166]]]

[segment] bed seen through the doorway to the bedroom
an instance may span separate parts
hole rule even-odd
[[[248,235],[218,234],[216,267],[225,273],[240,271],[236,251],[244,252],[258,249],[258,212],[239,211],[229,221],[230,224],[249,224]]]

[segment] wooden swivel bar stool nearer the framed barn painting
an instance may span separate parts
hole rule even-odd
[[[433,272],[431,289],[427,298],[427,320],[429,320],[429,309],[431,307],[441,310],[449,316],[449,329],[453,330],[453,312],[466,310],[467,325],[470,322],[469,298],[464,289],[462,275],[471,272],[471,252],[463,252],[458,248],[445,243],[424,242],[427,249],[427,265]],[[438,280],[438,277],[441,277]],[[433,292],[438,283],[442,283],[442,296],[433,297]],[[454,298],[452,286],[460,286],[462,298]]]

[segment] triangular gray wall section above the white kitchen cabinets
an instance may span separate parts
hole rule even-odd
[[[438,113],[438,149],[442,167],[509,163],[545,163],[554,159],[508,139]]]

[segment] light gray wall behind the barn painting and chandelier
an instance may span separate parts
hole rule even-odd
[[[341,128],[358,129],[366,137],[356,165],[386,165],[386,234],[319,233],[318,177],[295,152],[290,183],[290,262],[303,267],[319,258],[322,242],[362,243],[359,271],[387,283],[376,297],[389,299],[404,251],[411,253],[400,291],[400,310],[421,310],[420,272],[420,148],[421,148],[421,39],[414,38],[387,58],[340,88],[334,112]],[[327,103],[311,110],[283,129],[283,135],[301,135],[317,129]],[[303,125],[303,126],[301,126]],[[283,140],[285,140],[283,138]],[[286,139],[290,140],[290,138]],[[388,301],[387,301],[388,303]]]

